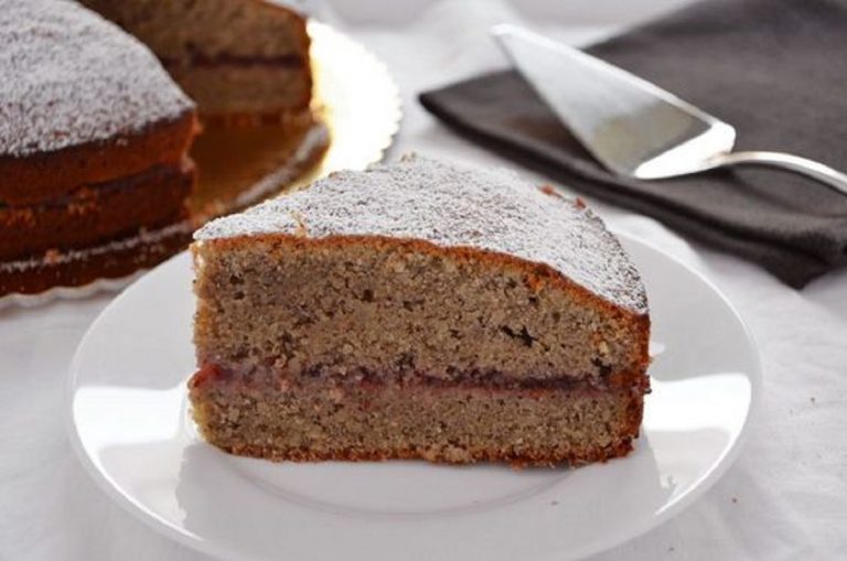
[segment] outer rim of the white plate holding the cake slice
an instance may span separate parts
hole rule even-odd
[[[557,551],[555,553],[555,557],[553,559],[577,559],[582,557],[588,557],[592,554],[598,554],[603,551],[609,551],[613,548],[621,547],[633,539],[646,535],[648,531],[658,528],[660,526],[663,526],[672,518],[678,516],[684,510],[686,510],[688,507],[697,503],[697,500],[706,494],[720,478],[727,473],[727,471],[735,465],[736,461],[738,460],[741,452],[744,450],[747,441],[749,439],[749,433],[751,430],[751,425],[753,422],[759,418],[760,416],[760,408],[761,408],[761,392],[762,392],[762,379],[763,379],[763,368],[762,368],[762,358],[761,358],[761,352],[760,347],[755,342],[755,338],[748,326],[747,322],[743,320],[739,311],[732,305],[731,301],[727,298],[727,295],[723,293],[720,288],[712,282],[703,271],[694,268],[689,263],[683,261],[682,259],[678,259],[673,253],[666,251],[665,249],[657,246],[654,241],[644,238],[643,236],[639,236],[636,234],[632,234],[619,228],[610,227],[610,230],[622,239],[624,248],[628,242],[635,242],[640,244],[650,250],[660,253],[663,258],[667,259],[668,261],[673,262],[675,266],[683,268],[687,273],[693,274],[697,280],[704,283],[715,295],[717,295],[720,301],[723,303],[723,306],[727,311],[730,312],[732,317],[738,323],[739,327],[741,328],[741,332],[744,335],[744,339],[747,343],[747,349],[749,350],[749,358],[751,359],[751,369],[749,373],[744,373],[747,375],[747,378],[750,380],[750,400],[749,406],[747,409],[747,414],[744,417],[743,423],[741,424],[741,428],[739,430],[738,435],[732,441],[730,447],[726,450],[717,460],[714,467],[705,473],[703,476],[700,476],[696,482],[691,483],[690,489],[686,492],[685,495],[679,497],[676,501],[674,501],[671,506],[665,508],[658,514],[655,514],[654,516],[650,518],[643,518],[637,521],[637,524],[631,525],[629,531],[622,531],[614,536],[614,539],[609,542],[603,543],[596,543],[596,544],[589,544],[588,547],[583,547],[582,549],[575,549],[575,550],[568,550],[568,551]],[[211,555],[216,559],[257,559],[261,560],[262,558],[251,558],[247,555],[243,551],[235,550],[229,543],[217,541],[217,542],[211,542],[208,540],[204,540],[202,537],[194,535],[193,532],[190,532],[187,530],[180,529],[175,526],[173,526],[168,519],[159,516],[158,514],[149,510],[144,505],[140,504],[139,501],[135,500],[131,496],[124,493],[119,486],[109,477],[109,475],[100,470],[94,460],[89,456],[89,454],[86,451],[86,447],[82,441],[82,435],[79,434],[79,431],[76,427],[76,420],[74,416],[74,397],[75,397],[75,389],[76,389],[76,381],[78,378],[78,371],[79,371],[79,363],[82,362],[81,357],[81,349],[86,345],[89,337],[93,336],[93,333],[96,331],[96,327],[99,325],[101,321],[104,321],[104,317],[114,309],[117,308],[122,303],[122,301],[128,298],[127,294],[131,292],[137,285],[146,282],[148,278],[151,276],[150,273],[156,272],[160,268],[167,267],[171,261],[175,261],[179,259],[186,259],[189,251],[181,251],[168,260],[163,261],[162,263],[158,265],[156,268],[149,270],[146,274],[142,274],[140,278],[135,280],[129,287],[127,287],[126,290],[124,290],[120,294],[118,294],[117,298],[115,298],[109,304],[103,309],[103,311],[97,315],[97,317],[90,323],[88,328],[86,330],[83,337],[79,339],[79,343],[74,350],[73,359],[69,363],[68,366],[68,375],[66,376],[65,381],[65,395],[64,395],[64,421],[65,421],[65,429],[67,433],[67,438],[71,441],[71,447],[74,450],[75,455],[78,457],[83,466],[85,467],[85,471],[87,472],[88,476],[94,479],[97,487],[99,487],[111,500],[117,503],[125,511],[129,513],[135,519],[140,520],[144,526],[152,529],[153,531],[167,536],[168,538],[174,540],[175,542],[180,543],[181,546],[191,548],[193,550],[200,551],[202,553],[205,553],[207,555]],[[626,458],[621,458],[621,461],[626,461]],[[546,555],[542,559],[547,559],[549,555]]]

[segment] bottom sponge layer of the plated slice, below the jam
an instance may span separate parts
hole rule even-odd
[[[642,393],[629,389],[234,382],[203,370],[190,388],[208,442],[274,461],[578,465],[625,455],[642,418]]]

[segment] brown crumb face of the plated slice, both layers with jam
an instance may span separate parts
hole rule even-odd
[[[272,460],[626,453],[643,325],[551,270],[376,237],[194,246],[204,436]]]

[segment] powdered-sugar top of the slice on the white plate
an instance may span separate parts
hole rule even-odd
[[[604,300],[646,313],[640,274],[602,220],[507,170],[407,157],[344,171],[197,230],[199,241],[285,234],[382,236],[471,247],[544,263]]]

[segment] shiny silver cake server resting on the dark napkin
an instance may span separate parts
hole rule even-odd
[[[733,152],[735,128],[626,71],[515,25],[495,25],[492,34],[577,140],[618,175],[661,180],[768,165],[847,195],[847,175],[823,163],[781,152]]]

